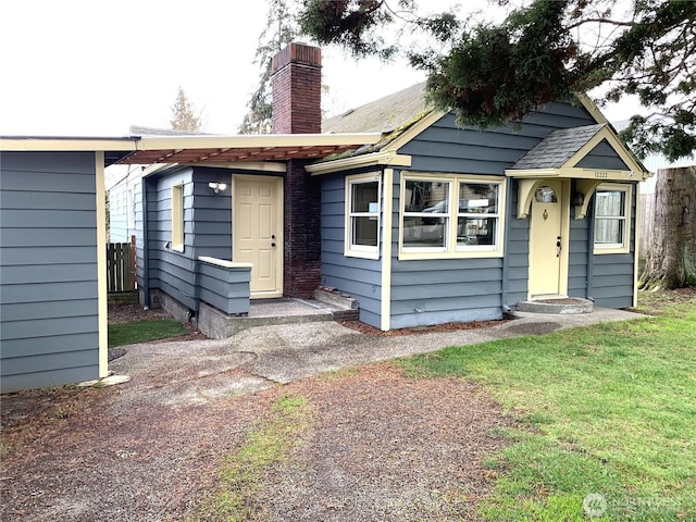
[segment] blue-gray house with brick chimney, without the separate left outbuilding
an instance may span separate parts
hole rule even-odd
[[[274,59],[275,135],[182,137],[124,161],[150,165],[112,190],[133,195],[146,304],[206,324],[322,286],[391,330],[497,319],[542,298],[634,303],[649,173],[586,97],[482,132],[428,109],[417,85],[322,122],[320,72],[316,48]],[[340,151],[319,148],[341,136]]]

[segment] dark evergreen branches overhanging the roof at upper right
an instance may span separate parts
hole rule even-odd
[[[526,0],[498,24],[414,10],[414,0],[304,0],[299,21],[320,45],[338,44],[356,57],[399,52],[384,40],[389,24],[428,34],[430,48],[405,52],[427,72],[435,105],[455,110],[462,125],[519,121],[602,86],[604,100],[637,95],[663,115],[635,116],[622,134],[639,154],[674,160],[696,150],[696,1]]]

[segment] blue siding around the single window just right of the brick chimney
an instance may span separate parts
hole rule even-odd
[[[360,303],[360,321],[380,327],[381,262],[344,256],[345,197],[344,176],[322,178],[322,285],[353,296]]]

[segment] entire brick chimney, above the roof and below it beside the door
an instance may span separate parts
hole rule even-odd
[[[290,44],[273,58],[273,134],[322,132],[321,66],[321,50],[303,44]],[[322,275],[321,184],[304,170],[307,163],[288,161],[283,181],[283,293],[299,298],[313,297]]]

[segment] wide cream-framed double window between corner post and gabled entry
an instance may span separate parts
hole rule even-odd
[[[504,179],[405,174],[399,256],[500,257],[504,208]]]

